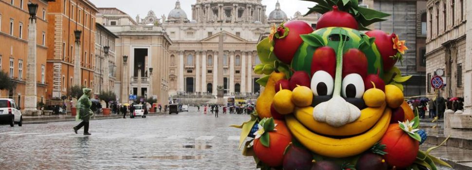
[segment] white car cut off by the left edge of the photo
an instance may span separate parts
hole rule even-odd
[[[0,99],[0,120],[7,122],[11,127],[23,125],[23,117],[17,103],[13,99]]]

